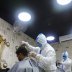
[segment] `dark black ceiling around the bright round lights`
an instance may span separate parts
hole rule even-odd
[[[60,6],[56,0],[0,0],[0,17],[14,24],[16,11],[28,8],[34,14],[33,26],[25,32],[33,39],[39,33],[58,37],[72,33],[72,2],[68,6]],[[58,7],[58,9],[57,9]],[[62,9],[61,9],[62,8]]]

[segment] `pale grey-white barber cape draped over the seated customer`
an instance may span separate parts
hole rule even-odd
[[[39,69],[27,57],[16,63],[8,72],[39,72]]]

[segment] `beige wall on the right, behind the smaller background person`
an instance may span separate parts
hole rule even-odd
[[[57,60],[61,59],[62,53],[64,51],[68,51],[69,57],[72,59],[72,40],[54,43],[52,46],[56,50]]]

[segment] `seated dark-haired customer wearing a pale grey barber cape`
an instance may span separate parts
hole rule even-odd
[[[39,72],[37,66],[33,64],[33,62],[28,57],[27,49],[22,45],[17,51],[17,57],[19,62],[16,63],[8,72]]]

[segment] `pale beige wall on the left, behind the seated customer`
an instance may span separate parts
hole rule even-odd
[[[8,64],[8,67],[12,67],[15,62],[17,62],[17,58],[15,55],[15,46],[19,46],[22,40],[28,41],[30,44],[35,45],[35,42],[32,38],[27,36],[26,34],[14,33],[13,27],[6,22],[5,20],[0,18],[0,35],[3,36],[10,43],[10,47],[4,46],[2,50],[1,59],[5,60]],[[0,48],[1,50],[2,48]]]

